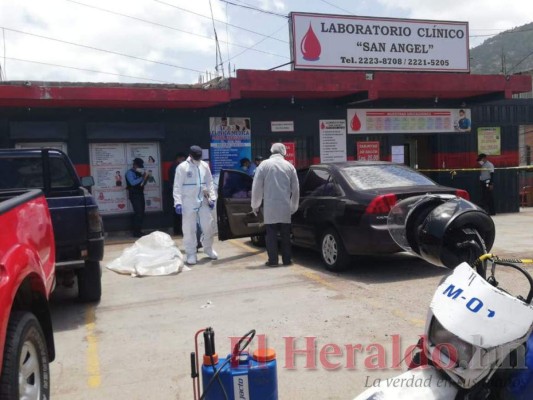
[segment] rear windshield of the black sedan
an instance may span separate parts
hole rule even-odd
[[[429,178],[402,165],[352,166],[343,168],[342,172],[359,190],[435,185]]]

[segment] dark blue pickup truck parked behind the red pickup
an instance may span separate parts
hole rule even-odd
[[[0,149],[0,198],[31,188],[44,192],[54,229],[57,284],[73,285],[77,277],[84,302],[102,295],[104,227],[88,190],[92,185],[93,178],[80,179],[60,150]]]

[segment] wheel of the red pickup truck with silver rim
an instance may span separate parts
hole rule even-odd
[[[0,398],[50,398],[48,348],[41,325],[30,312],[14,312],[9,319],[0,377]]]

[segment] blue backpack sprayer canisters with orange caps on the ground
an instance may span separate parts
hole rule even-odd
[[[205,338],[205,335],[204,335]],[[251,340],[251,339],[250,339]],[[205,400],[278,400],[276,352],[261,348],[249,354],[240,351],[223,360],[204,356],[202,389]],[[214,348],[213,348],[214,350]],[[214,363],[213,363],[214,362]],[[225,392],[225,394],[224,394]],[[226,397],[227,395],[227,397]]]

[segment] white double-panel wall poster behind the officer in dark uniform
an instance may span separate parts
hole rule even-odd
[[[157,143],[91,143],[89,145],[93,194],[102,214],[132,212],[126,189],[126,172],[133,159],[144,161],[150,174],[144,188],[146,211],[162,210],[161,160]]]

